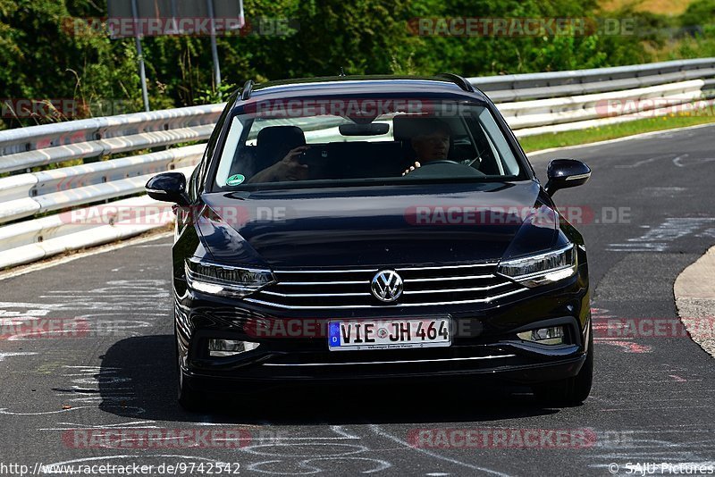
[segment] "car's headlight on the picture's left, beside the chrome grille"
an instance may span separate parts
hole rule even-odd
[[[273,283],[270,270],[214,264],[194,258],[184,264],[189,288],[209,295],[242,298]]]

